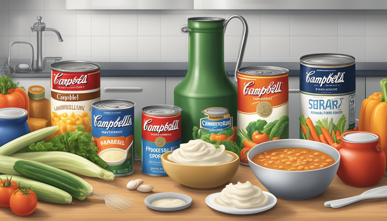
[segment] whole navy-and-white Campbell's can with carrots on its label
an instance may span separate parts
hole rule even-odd
[[[321,128],[330,128],[329,134],[354,128],[355,81],[355,58],[350,55],[312,54],[300,58],[301,139],[322,142]],[[311,127],[316,133],[311,133]]]

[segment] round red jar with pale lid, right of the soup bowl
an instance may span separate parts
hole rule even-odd
[[[341,159],[337,175],[352,186],[377,183],[384,175],[386,159],[379,146],[380,136],[366,131],[351,131],[341,135]]]

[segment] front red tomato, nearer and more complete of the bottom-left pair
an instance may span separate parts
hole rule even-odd
[[[34,191],[19,188],[11,195],[9,205],[16,215],[26,216],[35,211],[38,206],[38,198]]]

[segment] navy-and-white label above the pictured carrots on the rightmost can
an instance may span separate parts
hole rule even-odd
[[[300,66],[300,118],[355,126],[355,65],[347,67]],[[340,120],[341,119],[341,120]],[[340,120],[340,122],[339,122]],[[341,131],[343,133],[344,131]],[[305,139],[300,130],[300,138]]]

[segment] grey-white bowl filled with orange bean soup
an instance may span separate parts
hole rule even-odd
[[[264,142],[247,154],[248,163],[267,190],[283,199],[309,199],[330,185],[340,163],[334,147],[302,139]]]

